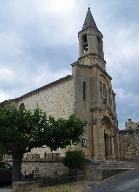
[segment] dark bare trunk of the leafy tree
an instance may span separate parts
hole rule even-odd
[[[21,164],[23,154],[15,154],[13,157],[12,181],[22,181]]]

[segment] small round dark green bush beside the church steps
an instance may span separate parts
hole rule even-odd
[[[85,164],[85,156],[81,151],[68,151],[63,159],[66,167],[71,169],[82,169]]]

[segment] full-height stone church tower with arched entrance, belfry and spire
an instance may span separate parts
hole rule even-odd
[[[106,71],[103,35],[90,8],[79,38],[79,58],[73,63],[75,113],[86,120],[80,150],[96,160],[118,158],[115,93]]]

